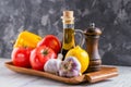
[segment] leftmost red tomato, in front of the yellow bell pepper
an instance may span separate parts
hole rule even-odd
[[[29,54],[33,49],[31,48],[14,48],[11,54],[12,62],[16,66],[29,67]]]

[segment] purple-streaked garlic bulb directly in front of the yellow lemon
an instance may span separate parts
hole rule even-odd
[[[81,74],[81,64],[75,57],[66,58],[61,62],[59,75],[64,77],[74,77]]]

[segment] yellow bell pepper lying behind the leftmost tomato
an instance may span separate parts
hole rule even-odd
[[[37,46],[37,42],[41,40],[41,37],[38,35],[35,35],[31,32],[24,30],[19,34],[19,37],[14,44],[14,48],[16,47],[29,47],[35,48]]]

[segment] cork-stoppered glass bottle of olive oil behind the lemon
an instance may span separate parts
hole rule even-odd
[[[62,23],[63,23],[63,39],[62,39],[62,54],[75,47],[74,42],[74,17],[73,11],[63,11]]]

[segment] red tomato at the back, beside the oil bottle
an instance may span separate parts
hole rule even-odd
[[[45,36],[37,44],[37,47],[40,47],[40,46],[47,46],[47,47],[51,48],[56,53],[59,53],[60,49],[61,49],[61,44],[60,44],[59,39],[53,35]]]

